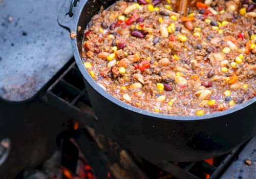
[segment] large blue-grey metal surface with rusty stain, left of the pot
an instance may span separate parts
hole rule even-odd
[[[0,0],[0,98],[32,98],[72,57],[62,0]]]

